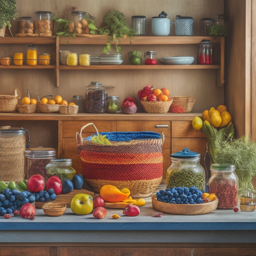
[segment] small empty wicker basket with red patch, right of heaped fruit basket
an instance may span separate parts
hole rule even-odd
[[[190,113],[195,104],[195,98],[191,96],[172,97],[173,102],[170,107],[172,113]]]

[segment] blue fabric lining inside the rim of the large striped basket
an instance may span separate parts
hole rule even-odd
[[[107,135],[110,141],[129,141],[129,140],[146,140],[146,139],[161,139],[161,134],[157,132],[99,132],[101,135]],[[92,136],[97,135],[94,133]],[[91,140],[92,136],[84,138]]]

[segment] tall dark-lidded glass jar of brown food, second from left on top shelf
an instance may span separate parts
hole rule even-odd
[[[38,11],[34,16],[34,34],[39,36],[52,36],[54,21],[51,19],[52,12]]]

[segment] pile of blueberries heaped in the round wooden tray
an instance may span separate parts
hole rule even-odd
[[[160,189],[156,193],[158,201],[171,203],[171,204],[201,204],[203,192],[197,187],[174,187]]]

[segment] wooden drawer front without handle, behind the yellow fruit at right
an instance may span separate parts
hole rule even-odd
[[[206,138],[202,130],[196,131],[191,121],[172,121],[172,138]]]

